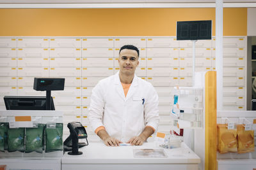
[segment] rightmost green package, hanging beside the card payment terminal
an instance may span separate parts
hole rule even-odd
[[[56,128],[45,129],[45,152],[63,150],[63,124],[56,124]]]

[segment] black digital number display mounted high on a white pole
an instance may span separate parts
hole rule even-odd
[[[212,39],[212,21],[178,21],[177,40]]]

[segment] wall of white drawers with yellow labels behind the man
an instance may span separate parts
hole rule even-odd
[[[88,122],[93,87],[119,70],[122,45],[140,50],[136,74],[156,87],[159,95],[159,131],[170,131],[170,110],[175,85],[192,85],[191,41],[175,37],[12,37],[0,38],[0,108],[4,95],[45,96],[33,90],[35,76],[65,78],[64,91],[52,91],[56,110],[64,113],[64,134],[68,122],[86,127],[89,141],[99,141]],[[223,39],[223,109],[245,110],[246,37]],[[215,68],[215,39],[196,42],[196,71]]]

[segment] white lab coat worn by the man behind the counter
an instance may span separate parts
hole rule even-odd
[[[93,88],[89,120],[93,131],[104,126],[109,136],[122,142],[139,136],[145,126],[151,126],[157,131],[157,92],[151,83],[134,75],[125,97],[118,72],[100,80]]]

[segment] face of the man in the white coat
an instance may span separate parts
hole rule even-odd
[[[136,67],[139,65],[138,59],[139,56],[135,50],[122,50],[118,59],[120,72],[127,76],[134,74]]]

